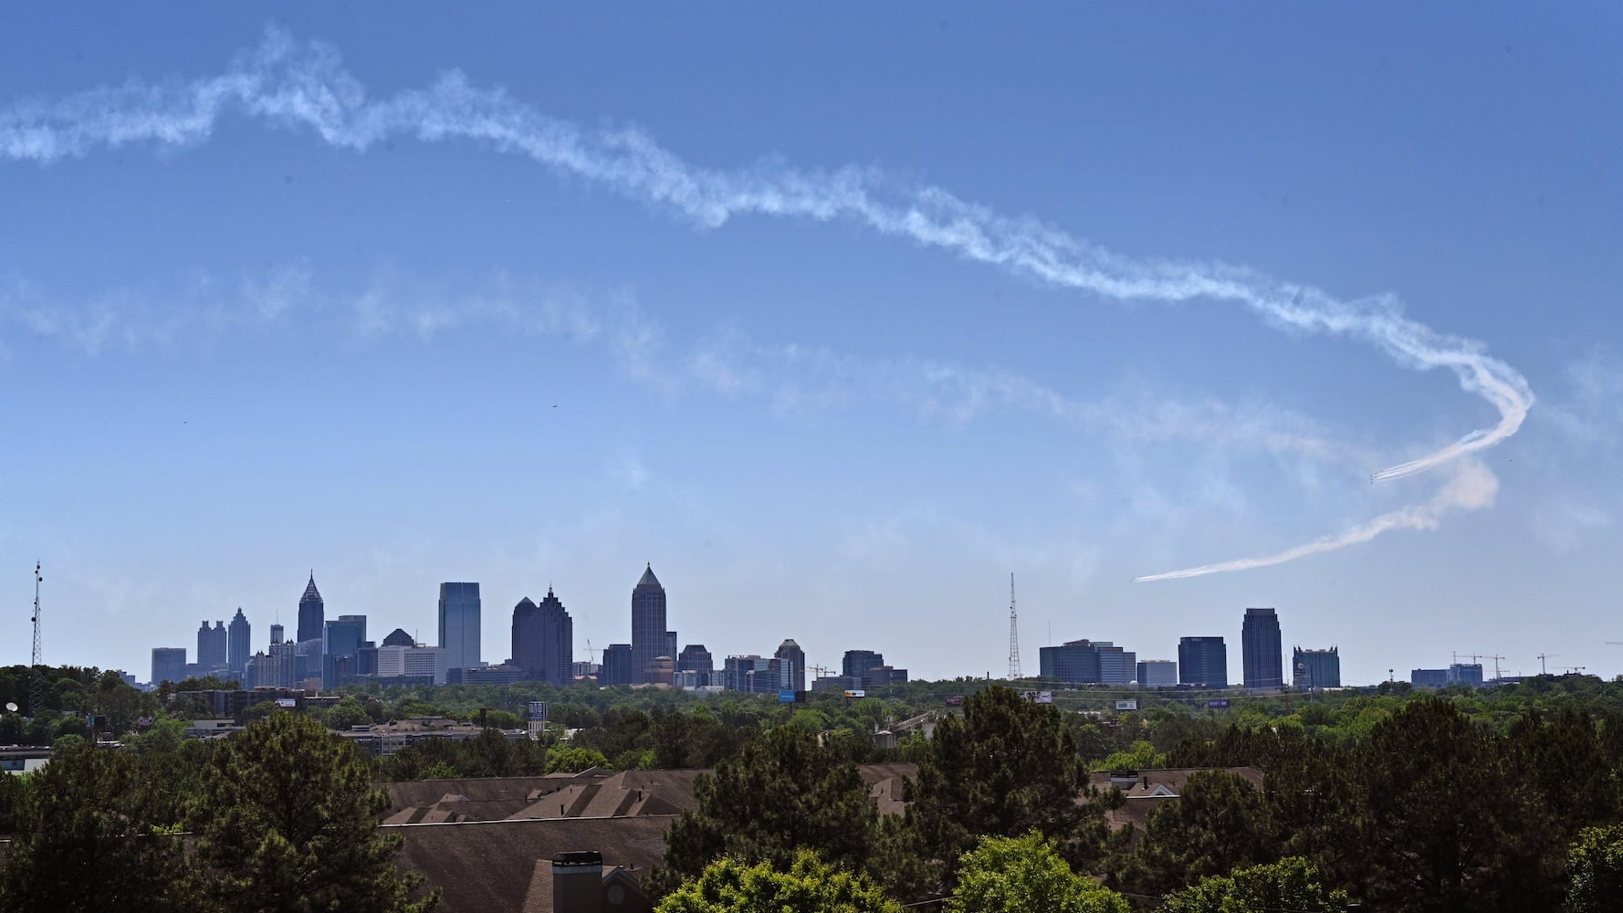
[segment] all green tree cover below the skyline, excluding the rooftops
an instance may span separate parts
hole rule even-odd
[[[0,692],[18,700],[28,673],[0,669]],[[1308,702],[1233,694],[1220,712],[1208,695],[1146,690],[1128,713],[1096,712],[1120,690],[1055,690],[1048,705],[967,681],[794,705],[591,686],[370,687],[304,713],[255,705],[248,733],[193,741],[187,720],[211,708],[185,692],[227,682],[141,694],[97,669],[44,677],[39,713],[10,713],[0,728],[0,741],[57,746],[44,772],[0,778],[0,830],[16,835],[0,879],[6,908],[187,910],[203,895],[253,908],[287,889],[279,872],[320,876],[316,858],[349,872],[312,887],[329,892],[325,903],[409,908],[390,845],[362,842],[378,833],[372,783],[592,767],[712,768],[648,882],[683,903],[722,903],[721,885],[782,879],[966,911],[1070,897],[1063,885],[1097,881],[1125,897],[1170,898],[1169,910],[1318,910],[1345,897],[1396,911],[1605,910],[1623,890],[1623,681],[1425,694],[1386,684]],[[540,741],[498,731],[523,725],[524,700],[549,702]],[[925,712],[935,713],[930,738],[915,721],[888,747],[881,731]],[[493,728],[381,760],[323,731],[420,718]],[[93,729],[123,747],[91,747]],[[305,760],[273,760],[287,754]],[[907,809],[880,817],[857,765],[898,760],[917,765]],[[1209,770],[1159,803],[1141,832],[1112,833],[1105,814],[1125,799],[1089,790],[1087,770],[1152,767]],[[269,796],[297,796],[300,814],[279,817]],[[320,830],[308,820],[318,812],[349,824]],[[177,840],[182,832],[190,837]],[[321,840],[346,842],[349,855]],[[704,879],[711,894],[688,890]],[[1086,900],[1118,902],[1104,889]]]

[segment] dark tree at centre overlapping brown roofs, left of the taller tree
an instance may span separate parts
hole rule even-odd
[[[695,877],[721,856],[787,869],[802,850],[860,871],[878,811],[857,765],[839,762],[799,726],[747,744],[716,775],[693,783],[698,809],[682,812],[665,838],[665,866]]]

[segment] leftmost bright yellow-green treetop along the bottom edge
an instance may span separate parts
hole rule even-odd
[[[674,890],[656,913],[901,913],[901,907],[867,879],[800,851],[787,872],[771,863],[747,866],[722,858]]]

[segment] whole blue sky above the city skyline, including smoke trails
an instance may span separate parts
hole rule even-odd
[[[1623,15],[1462,11],[11,10],[0,663],[36,559],[140,677],[651,560],[717,658],[998,674],[1013,572],[1027,671],[1613,676]]]

